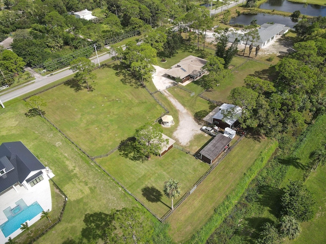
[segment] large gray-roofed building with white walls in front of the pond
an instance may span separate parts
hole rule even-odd
[[[275,40],[278,36],[282,36],[289,31],[290,27],[285,26],[285,24],[262,24],[258,28],[259,40],[255,41],[253,45],[260,48],[264,48],[268,43]],[[235,38],[238,39],[239,44],[246,44],[246,40],[241,40],[243,32],[236,32],[229,34],[229,42],[234,42]],[[251,45],[251,42],[248,41],[248,45]]]

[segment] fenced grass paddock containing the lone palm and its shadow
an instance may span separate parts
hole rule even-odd
[[[166,180],[179,180],[183,195],[209,169],[208,164],[176,148],[145,162],[124,158],[119,151],[96,161],[159,217],[171,207],[171,200],[163,194]]]

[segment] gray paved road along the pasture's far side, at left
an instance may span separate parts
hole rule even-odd
[[[100,62],[103,62],[106,59],[111,58],[111,57],[112,57],[112,55],[110,55],[110,54],[103,54],[103,55],[98,56],[98,59]],[[92,57],[91,60],[92,60],[92,62],[95,61],[96,65],[98,65],[97,58]],[[69,67],[68,67],[68,68],[62,69],[60,71],[57,71],[56,73],[53,73],[53,75],[47,75],[47,76],[43,76],[41,78],[37,77],[37,79],[30,81],[27,84],[24,83],[21,86],[12,88],[10,92],[8,92],[6,89],[4,89],[2,91],[2,93],[0,93],[0,101],[2,101],[3,103],[8,102],[9,100],[12,100],[12,99],[20,97],[24,94],[33,92],[33,90],[36,90],[42,86],[50,84],[56,80],[65,78],[71,74],[73,74],[73,72],[72,72],[72,70],[69,70]],[[4,94],[4,93],[6,93],[6,94]],[[1,95],[1,94],[4,94],[4,95]],[[5,106],[6,106],[6,104],[5,104]],[[0,108],[1,108],[1,106],[0,106]]]

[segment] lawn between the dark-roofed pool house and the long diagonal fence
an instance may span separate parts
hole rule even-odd
[[[0,110],[1,142],[23,142],[45,166],[50,167],[56,175],[53,180],[68,196],[62,222],[36,243],[62,243],[68,237],[77,239],[85,226],[85,214],[109,213],[112,208],[135,205],[71,142],[40,116],[26,117],[26,111],[28,108],[22,101]]]

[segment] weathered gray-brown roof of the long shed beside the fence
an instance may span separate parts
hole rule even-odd
[[[199,153],[213,161],[230,142],[230,138],[218,133]]]

